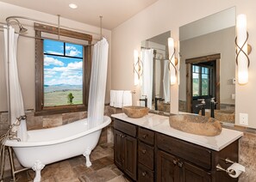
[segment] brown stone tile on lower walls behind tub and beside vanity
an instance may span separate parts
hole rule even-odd
[[[111,106],[105,106],[104,112],[105,115],[111,116],[111,114],[122,112],[122,110]],[[28,130],[33,130],[72,123],[80,118],[86,118],[87,112],[72,112],[49,116],[34,116],[34,112],[28,112],[27,116]],[[8,126],[9,123],[7,113],[0,112],[1,135],[3,134],[4,130],[8,129]],[[107,142],[114,142],[112,124],[103,129],[100,137],[99,143]],[[244,136],[240,139],[239,159],[240,164],[246,167],[246,173],[241,174],[239,182],[256,181],[256,132],[244,132]]]

